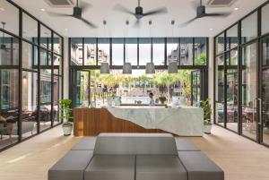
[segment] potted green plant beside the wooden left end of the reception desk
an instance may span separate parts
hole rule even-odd
[[[73,116],[71,116],[71,112],[73,111],[72,108],[70,108],[70,105],[72,103],[72,100],[70,99],[61,99],[59,102],[59,110],[61,113],[61,116],[59,118],[63,119],[63,132],[64,135],[71,135],[73,130],[73,124],[69,122],[69,119],[73,119]]]

